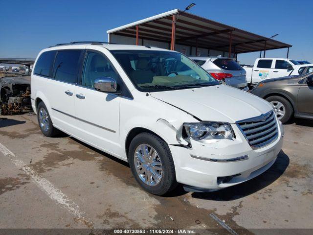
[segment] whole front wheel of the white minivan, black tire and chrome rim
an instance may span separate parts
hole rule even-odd
[[[137,183],[155,195],[164,195],[177,186],[170,148],[159,137],[140,133],[132,140],[129,164]]]

